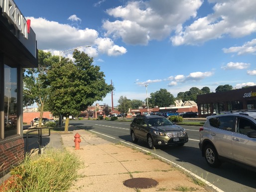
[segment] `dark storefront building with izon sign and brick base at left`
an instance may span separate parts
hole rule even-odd
[[[0,178],[24,160],[23,68],[38,67],[36,35],[13,0],[0,0]]]

